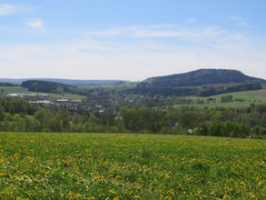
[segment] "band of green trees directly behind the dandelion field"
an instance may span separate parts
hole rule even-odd
[[[31,105],[22,98],[5,97],[0,98],[0,131],[259,136],[266,135],[266,105],[243,110],[125,105],[118,111],[111,106],[104,113],[71,114],[64,105]]]

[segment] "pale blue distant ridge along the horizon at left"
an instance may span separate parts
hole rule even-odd
[[[121,80],[74,80],[74,79],[62,79],[62,78],[0,78],[0,82],[12,83],[20,85],[24,81],[38,80],[38,81],[50,81],[65,85],[108,85],[114,84]]]

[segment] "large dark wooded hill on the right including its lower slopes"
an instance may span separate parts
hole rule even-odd
[[[177,75],[151,77],[128,90],[132,94],[210,96],[261,89],[266,80],[237,70],[199,69]]]

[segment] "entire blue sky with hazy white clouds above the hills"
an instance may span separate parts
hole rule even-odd
[[[265,0],[0,0],[0,78],[266,79]]]

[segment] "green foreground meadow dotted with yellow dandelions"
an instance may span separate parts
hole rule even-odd
[[[266,142],[0,134],[0,199],[266,199]]]

